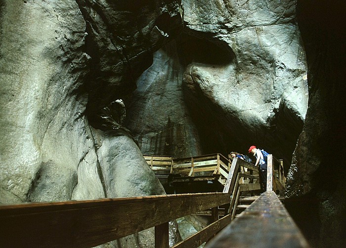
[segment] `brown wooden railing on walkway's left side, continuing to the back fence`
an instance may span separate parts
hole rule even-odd
[[[216,157],[216,160],[221,159],[225,158]],[[154,167],[154,158],[152,161]],[[194,158],[191,160],[191,165],[195,165],[196,161],[200,162]],[[215,161],[211,163],[215,163]],[[192,173],[193,171],[198,172],[195,169],[199,167],[210,167],[202,164],[193,166]],[[174,165],[178,165],[175,167],[176,169],[184,168],[179,163],[175,164],[173,159],[170,171],[174,169]],[[222,175],[220,171],[224,167],[222,163],[216,163],[213,173]],[[212,208],[214,220],[212,224],[173,246],[174,248],[198,247],[234,218],[233,210],[240,192],[259,189],[259,184],[256,182],[258,179],[256,166],[240,159],[234,159],[227,167],[229,167],[229,173],[222,193],[0,206],[0,245],[16,248],[94,247],[155,227],[155,247],[168,248],[169,221]],[[248,171],[244,169],[242,172],[241,167],[247,168]],[[207,170],[212,171],[210,168]],[[246,178],[247,181],[239,183],[241,178]],[[225,211],[225,216],[219,219],[218,207],[223,205],[229,207]]]

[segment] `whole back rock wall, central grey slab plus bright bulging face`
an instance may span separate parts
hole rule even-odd
[[[290,162],[308,100],[295,2],[182,3],[183,34],[156,53],[128,104],[141,150],[182,156],[185,143],[192,156],[255,144]]]

